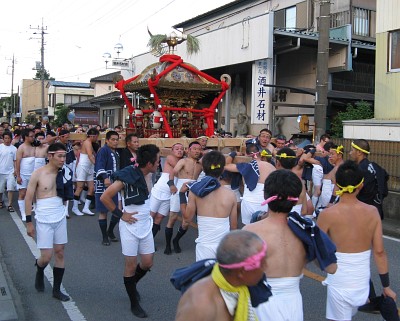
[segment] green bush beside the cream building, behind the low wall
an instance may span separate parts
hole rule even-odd
[[[371,104],[366,101],[358,101],[354,104],[347,104],[346,111],[340,111],[333,119],[332,134],[334,137],[343,138],[343,121],[374,118],[374,110]]]

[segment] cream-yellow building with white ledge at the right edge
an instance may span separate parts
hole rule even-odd
[[[400,20],[397,0],[377,0],[375,118],[346,121],[345,138],[400,141]]]

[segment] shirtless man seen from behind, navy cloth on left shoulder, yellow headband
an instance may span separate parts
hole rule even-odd
[[[224,170],[225,156],[211,151],[203,156],[202,164],[206,176],[189,186],[188,205],[183,213],[186,225],[197,214],[196,261],[215,258],[221,239],[237,228],[236,195],[230,189],[220,188],[218,181]]]

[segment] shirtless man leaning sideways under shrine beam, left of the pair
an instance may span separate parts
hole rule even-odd
[[[153,237],[156,236],[160,230],[162,220],[169,213],[171,200],[171,191],[168,185],[169,176],[173,174],[174,167],[183,158],[183,154],[183,145],[181,143],[176,143],[172,146],[172,154],[166,157],[161,177],[151,190],[150,215],[153,217]],[[168,227],[165,229],[165,234],[167,234]]]

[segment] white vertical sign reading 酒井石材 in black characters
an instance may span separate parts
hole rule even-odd
[[[252,68],[251,123],[269,125],[271,114],[272,59],[256,60]],[[268,127],[268,126],[266,126]]]

